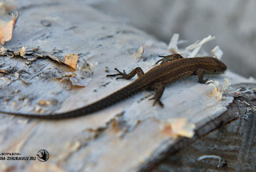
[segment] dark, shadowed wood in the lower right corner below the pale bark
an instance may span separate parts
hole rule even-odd
[[[255,84],[238,86],[248,90]],[[227,116],[234,120],[224,124]],[[214,122],[217,130],[178,152],[165,154],[153,171],[256,171],[256,91],[235,98],[226,113]],[[198,161],[203,155],[218,156],[221,162],[218,158]]]

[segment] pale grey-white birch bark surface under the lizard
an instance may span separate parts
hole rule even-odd
[[[13,39],[7,50],[27,46],[40,58],[1,56],[0,106],[22,113],[62,112],[85,106],[126,86],[131,81],[106,78],[136,66],[149,70],[158,54],[170,54],[167,45],[132,26],[102,14],[86,2],[22,1]],[[1,16],[2,17],[2,16]],[[3,18],[9,18],[6,14]],[[50,22],[50,25],[44,23]],[[142,56],[134,56],[139,47]],[[189,54],[190,51],[186,52]],[[76,70],[57,61],[78,54]],[[200,54],[200,53],[199,53]],[[31,59],[32,58],[32,59]],[[35,59],[34,59],[35,58]],[[247,81],[228,71],[210,79],[222,85]],[[1,161],[1,170],[16,171],[138,171],[152,169],[166,152],[187,146],[189,138],[163,130],[166,122],[185,119],[184,130],[202,136],[233,101],[237,87],[230,86],[221,99],[211,96],[213,86],[192,77],[167,86],[162,96],[165,108],[152,106],[152,92],[142,92],[124,102],[81,118],[50,122],[1,114],[0,150],[35,156],[48,150],[47,162]],[[46,103],[42,103],[46,102]],[[227,116],[229,122],[237,116]],[[179,123],[178,123],[179,124]],[[186,126],[194,126],[186,129]],[[183,128],[182,128],[183,130]],[[193,141],[192,138],[191,141]]]

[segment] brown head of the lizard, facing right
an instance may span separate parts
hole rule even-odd
[[[210,66],[209,69],[206,70],[206,74],[223,74],[227,66],[220,61],[218,58],[211,58],[213,62],[211,62],[212,66]]]

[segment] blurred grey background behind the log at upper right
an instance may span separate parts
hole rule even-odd
[[[188,45],[209,34],[215,39],[203,49],[218,45],[230,70],[256,78],[255,0],[87,0],[88,4],[169,43],[174,33]]]

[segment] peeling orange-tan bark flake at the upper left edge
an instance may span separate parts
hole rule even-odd
[[[18,20],[18,12],[16,12],[16,15],[12,14],[12,16],[13,19],[10,22],[0,21],[0,43],[2,45],[13,37],[14,26]]]

